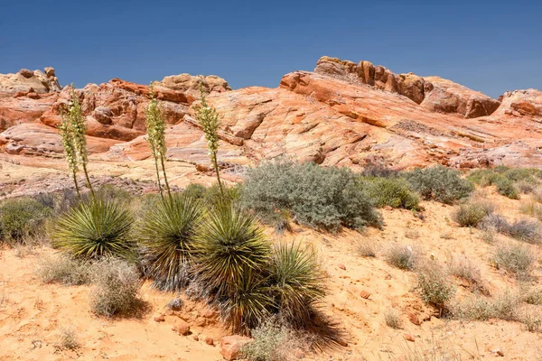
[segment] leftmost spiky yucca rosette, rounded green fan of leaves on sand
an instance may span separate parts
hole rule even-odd
[[[133,224],[130,211],[120,203],[92,199],[61,216],[52,244],[75,257],[129,258],[135,245],[129,236]]]

